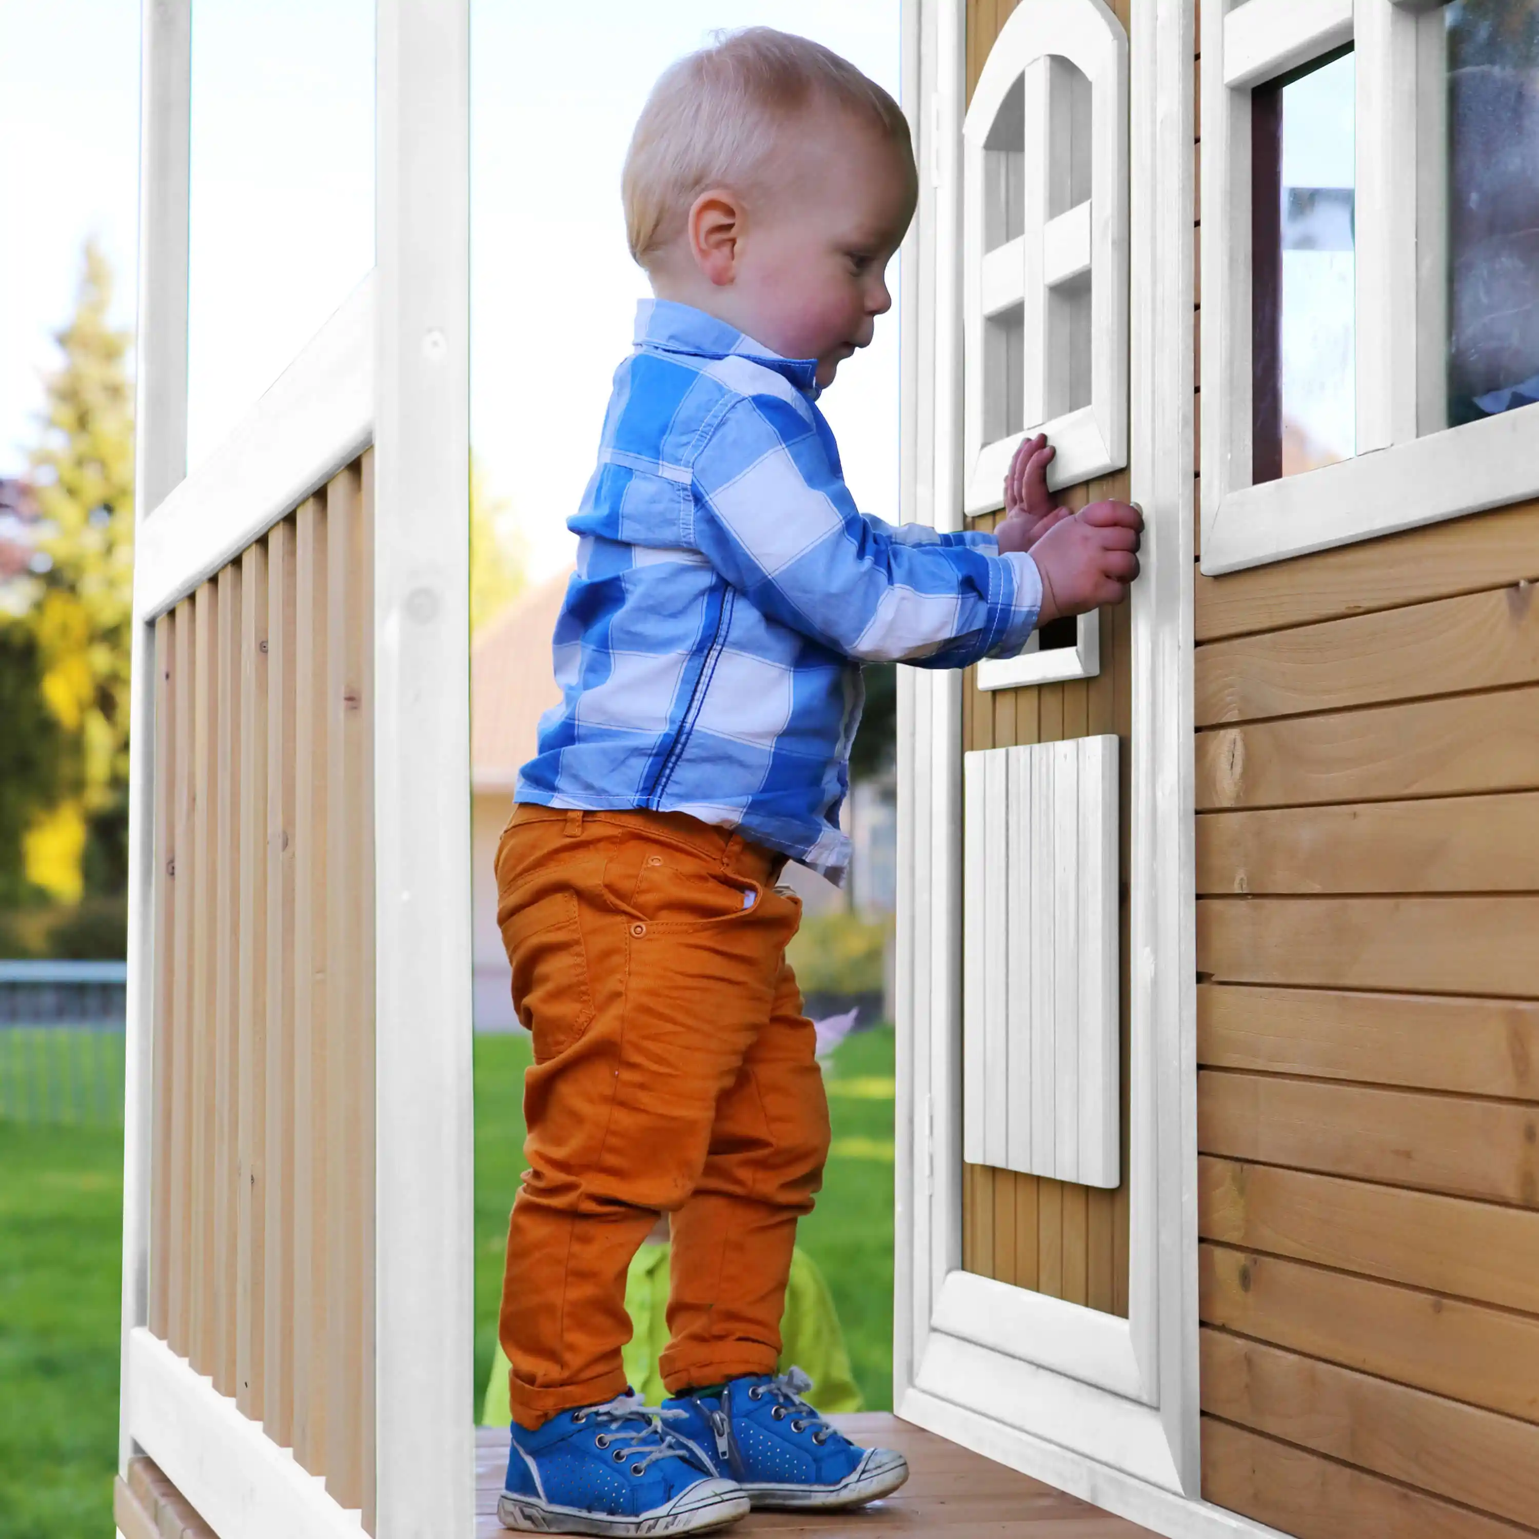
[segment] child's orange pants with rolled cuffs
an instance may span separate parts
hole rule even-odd
[[[625,1274],[659,1213],[663,1382],[774,1371],[796,1220],[828,1154],[783,863],[676,813],[520,805],[502,836],[497,922],[534,1036],[502,1288],[523,1427],[623,1393]]]

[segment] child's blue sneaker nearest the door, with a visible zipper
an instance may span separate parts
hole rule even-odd
[[[663,1414],[686,1413],[669,1420],[669,1431],[717,1474],[737,1481],[754,1507],[831,1511],[896,1491],[908,1479],[908,1461],[890,1448],[857,1448],[802,1399],[811,1387],[800,1368],[733,1379],[720,1399],[663,1400]]]

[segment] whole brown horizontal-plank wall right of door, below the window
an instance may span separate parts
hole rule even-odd
[[[1539,1533],[1536,579],[1197,574],[1202,1494],[1299,1539]]]

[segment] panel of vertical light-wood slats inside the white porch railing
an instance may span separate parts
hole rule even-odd
[[[372,1531],[371,462],[155,626],[149,1325]]]

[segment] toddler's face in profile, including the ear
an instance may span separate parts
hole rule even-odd
[[[870,343],[893,306],[885,272],[914,214],[908,157],[846,112],[813,109],[785,134],[788,174],[743,200],[706,194],[689,240],[706,306],[817,383]]]

